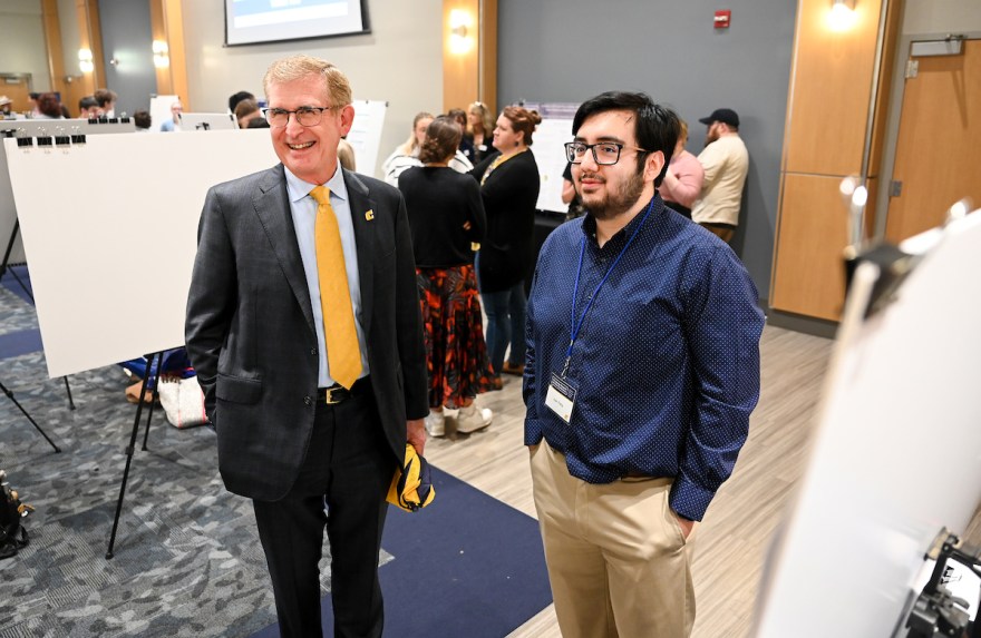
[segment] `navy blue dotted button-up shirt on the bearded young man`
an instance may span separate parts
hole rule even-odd
[[[671,508],[701,520],[732,472],[759,399],[764,315],[756,286],[725,243],[655,195],[601,248],[591,216],[542,247],[528,302],[525,444],[565,454],[572,475],[609,483],[628,473],[674,479]],[[575,317],[616,259],[582,323],[566,380],[570,423],[545,406],[566,362]]]

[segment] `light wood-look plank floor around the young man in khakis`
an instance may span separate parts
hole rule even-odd
[[[832,342],[767,326],[760,344],[763,391],[732,478],[716,495],[695,539],[698,612],[695,638],[748,636],[770,539],[804,471],[813,416]],[[521,380],[483,395],[494,423],[470,435],[430,439],[427,459],[479,490],[535,517],[522,444]],[[448,423],[449,425],[449,423]],[[561,636],[550,606],[512,638]]]

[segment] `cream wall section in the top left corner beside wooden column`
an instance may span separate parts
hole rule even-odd
[[[0,72],[30,73],[31,90],[51,90],[40,0],[0,0]]]

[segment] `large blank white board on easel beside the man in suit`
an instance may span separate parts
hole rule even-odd
[[[279,161],[262,129],[3,144],[51,377],[182,345],[207,189]]]

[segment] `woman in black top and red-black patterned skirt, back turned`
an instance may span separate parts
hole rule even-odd
[[[433,120],[419,151],[422,166],[398,178],[416,255],[433,436],[445,433],[444,405],[459,409],[457,432],[486,428],[493,416],[474,404],[477,393],[493,387],[472,248],[483,241],[487,219],[477,184],[448,167],[460,135],[451,118]]]

